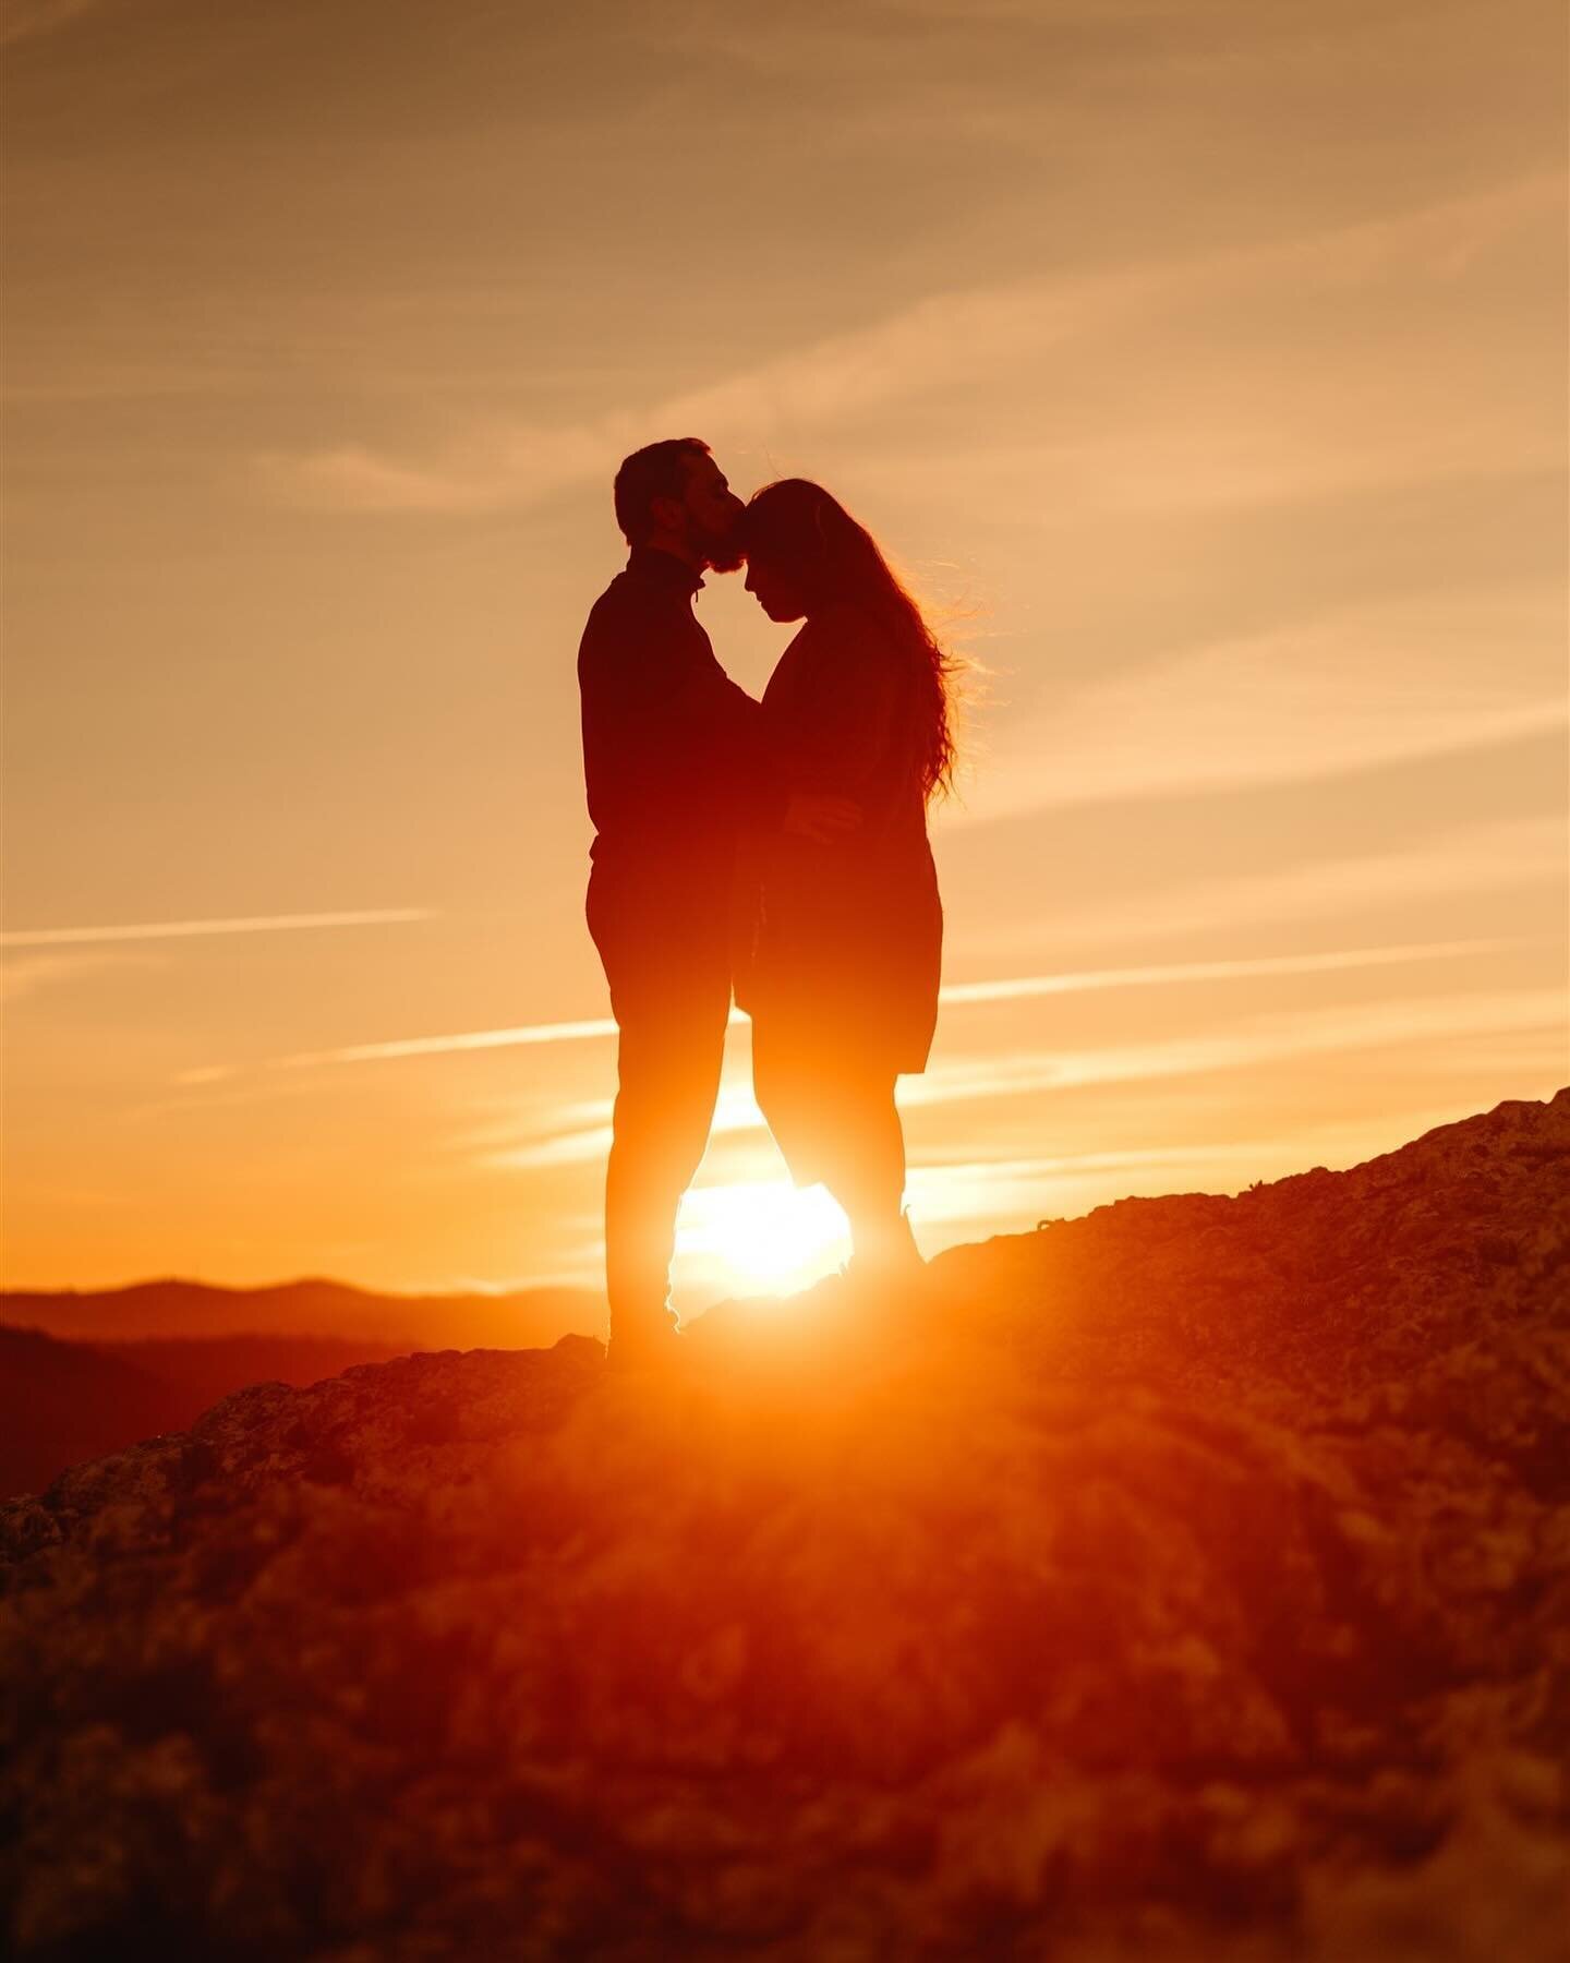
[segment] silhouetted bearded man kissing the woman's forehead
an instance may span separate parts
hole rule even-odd
[[[703,573],[734,571],[742,501],[697,438],[650,444],[616,473],[626,571],[595,603],[577,658],[595,822],[589,932],[620,1031],[604,1180],[610,1362],[675,1349],[675,1215],[708,1142],[730,1017],[730,905],[742,822],[826,838],[856,821],[789,797],[759,705],[693,614]]]

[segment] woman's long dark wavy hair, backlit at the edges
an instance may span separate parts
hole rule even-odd
[[[822,485],[781,477],[746,508],[748,556],[765,559],[797,587],[809,610],[848,601],[881,620],[916,663],[916,775],[922,799],[954,789],[954,677],[960,663],[938,642],[920,607],[895,577],[871,532]]]

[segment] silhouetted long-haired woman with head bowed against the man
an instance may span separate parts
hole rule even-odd
[[[736,999],[752,1015],[754,1088],[797,1186],[822,1180],[844,1207],[856,1270],[899,1268],[918,1256],[895,1078],[926,1068],[938,1019],[926,805],[954,766],[954,663],[818,485],[767,485],[742,538],[763,612],[805,620],[763,695],[765,730],[791,781],[862,807],[834,844],[750,840]]]

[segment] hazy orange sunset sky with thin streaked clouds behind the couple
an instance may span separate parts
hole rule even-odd
[[[1564,1082],[1558,4],[0,43],[8,1286],[595,1276],[573,656],[652,436],[820,477],[989,669],[928,1250]],[[730,1068],[687,1305],[834,1258]]]

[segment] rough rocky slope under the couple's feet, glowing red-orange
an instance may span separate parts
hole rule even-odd
[[[24,1957],[1566,1955],[1570,1091],[0,1510]]]

